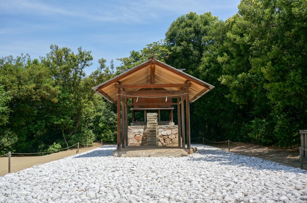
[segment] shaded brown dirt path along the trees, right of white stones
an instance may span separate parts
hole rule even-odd
[[[259,146],[249,143],[235,142],[239,145],[235,145],[230,142],[230,151],[238,154],[243,154],[246,156],[259,157],[262,159],[267,159],[270,161],[275,161],[278,163],[293,166],[295,168],[300,168],[300,151],[299,149],[293,150],[278,150],[280,148]],[[207,144],[228,151],[228,142],[221,144]],[[286,149],[286,148],[285,148]],[[307,162],[307,158],[304,157],[304,161]],[[303,168],[307,169],[307,164],[303,163]]]

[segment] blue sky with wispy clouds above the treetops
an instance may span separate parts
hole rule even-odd
[[[169,25],[190,11],[211,11],[226,20],[238,11],[239,0],[35,1],[0,0],[0,57],[45,56],[50,44],[91,50],[93,65],[129,56],[146,44],[164,39]]]

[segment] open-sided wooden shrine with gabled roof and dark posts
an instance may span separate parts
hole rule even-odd
[[[92,89],[112,104],[117,103],[117,150],[120,151],[121,147],[128,145],[128,106],[133,106],[132,122],[135,111],[144,111],[146,122],[146,111],[152,110],[159,114],[160,111],[169,111],[169,120],[173,121],[172,106],[177,105],[178,146],[185,148],[186,137],[187,149],[190,149],[189,103],[196,101],[213,87],[152,56],[148,61],[123,70],[120,75]],[[128,103],[129,98],[132,103]],[[173,102],[173,98],[177,98],[177,102]]]

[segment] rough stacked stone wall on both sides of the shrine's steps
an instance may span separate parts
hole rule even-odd
[[[128,145],[147,145],[147,126],[128,126]],[[178,126],[158,126],[158,146],[178,146]]]

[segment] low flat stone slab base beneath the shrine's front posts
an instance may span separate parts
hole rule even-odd
[[[125,146],[121,151],[113,151],[114,157],[184,157],[197,151],[196,147],[191,149],[171,146]]]

